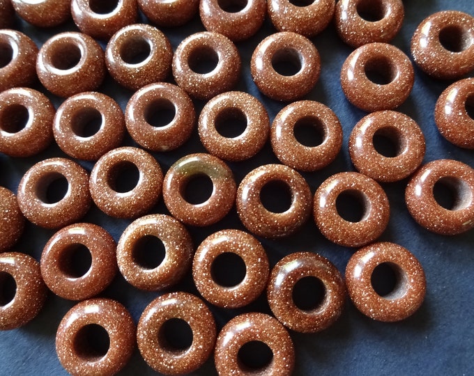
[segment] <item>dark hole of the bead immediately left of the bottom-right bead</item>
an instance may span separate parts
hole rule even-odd
[[[293,286],[293,303],[302,311],[313,311],[323,304],[326,288],[321,279],[305,276]]]

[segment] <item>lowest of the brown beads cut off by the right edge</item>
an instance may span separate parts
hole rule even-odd
[[[452,192],[452,205],[441,205],[435,185]],[[438,159],[422,166],[406,186],[408,211],[420,226],[441,235],[456,235],[474,227],[474,170],[459,161]]]

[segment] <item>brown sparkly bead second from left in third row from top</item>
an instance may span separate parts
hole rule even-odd
[[[73,95],[56,111],[54,139],[70,157],[95,161],[118,148],[125,134],[125,118],[119,104],[96,92]]]

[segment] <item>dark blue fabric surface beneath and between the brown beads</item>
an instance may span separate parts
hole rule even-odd
[[[413,31],[429,14],[448,9],[474,14],[472,0],[404,1],[404,5],[406,11],[404,26],[392,44],[402,49],[408,56]],[[146,21],[144,18],[142,20]],[[59,29],[40,30],[20,19],[17,19],[15,26],[31,36],[38,45],[45,42],[52,33],[77,30],[72,23]],[[204,27],[199,22],[199,17],[196,17],[186,26],[164,31],[176,49],[185,36],[202,30]],[[269,100],[257,91],[250,77],[250,57],[259,41],[274,31],[266,19],[263,29],[256,36],[237,44],[243,61],[242,79],[237,89],[259,98],[265,104],[270,120],[273,120],[284,104]],[[339,171],[354,170],[347,143],[353,125],[365,116],[365,113],[346,100],[339,84],[339,72],[345,58],[352,51],[351,47],[344,45],[337,38],[333,24],[312,40],[321,54],[322,71],[316,87],[305,99],[317,100],[328,105],[339,116],[344,130],[344,144],[335,162],[321,171],[303,174],[314,193],[321,182],[330,175]],[[418,68],[415,68],[415,75],[413,92],[398,111],[411,116],[422,128],[427,141],[424,162],[452,158],[474,166],[473,152],[456,148],[445,141],[434,124],[436,99],[452,81],[431,79]],[[110,77],[107,77],[100,91],[114,97],[123,109],[132,95],[132,92],[119,87]],[[52,97],[52,100],[56,108],[61,103],[57,97]],[[195,103],[198,111],[204,105],[204,102]],[[130,138],[125,139],[124,144],[134,145]],[[204,151],[197,131],[194,130],[192,138],[183,147],[172,152],[153,155],[160,162],[162,169],[167,171],[179,157],[190,152]],[[0,185],[16,191],[18,182],[29,167],[40,159],[53,156],[66,155],[56,145],[50,146],[36,157],[26,159],[0,154]],[[277,162],[270,144],[267,143],[256,157],[245,162],[229,163],[229,166],[234,171],[236,181],[240,182],[256,166]],[[93,164],[84,162],[81,164],[91,171]],[[403,180],[383,185],[390,199],[392,213],[381,240],[405,246],[420,260],[427,276],[427,295],[424,304],[407,320],[382,323],[366,318],[348,299],[342,317],[326,331],[312,335],[291,332],[296,347],[295,375],[472,375],[474,373],[472,318],[474,287],[471,280],[474,276],[474,233],[469,231],[462,235],[445,237],[429,233],[418,226],[408,214],[404,203],[406,182],[407,180]],[[162,201],[153,212],[168,213]],[[130,224],[128,220],[105,216],[95,206],[84,221],[104,226],[115,240],[119,240],[123,229]],[[197,246],[205,237],[222,228],[243,229],[235,208],[214,226],[189,228],[189,230]],[[25,233],[15,249],[39,260],[43,246],[53,233],[52,230],[27,224]],[[296,235],[278,241],[261,239],[261,242],[268,252],[272,266],[288,253],[314,251],[328,258],[342,273],[354,251],[326,240],[312,219]],[[170,290],[197,293],[189,274]],[[122,276],[118,275],[100,296],[120,301],[130,310],[137,322],[146,305],[157,295],[155,292],[143,292],[132,288]],[[74,304],[49,293],[45,308],[36,319],[21,329],[0,332],[0,375],[65,375],[66,371],[56,357],[54,337],[61,318]],[[224,310],[212,306],[211,309],[215,313],[219,329],[237,313],[249,311],[269,313],[264,296],[250,306],[238,310]],[[121,375],[152,374],[155,373],[140,357],[138,350],[135,350],[132,360],[121,372]],[[194,375],[214,374],[212,359],[204,368],[194,373]]]

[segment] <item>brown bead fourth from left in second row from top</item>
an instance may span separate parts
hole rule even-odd
[[[185,38],[173,56],[176,83],[192,97],[210,100],[236,86],[240,55],[234,43],[220,33],[195,33]]]

